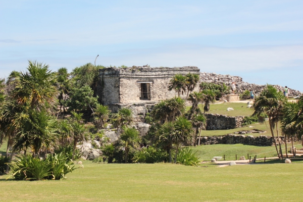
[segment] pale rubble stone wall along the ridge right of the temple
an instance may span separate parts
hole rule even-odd
[[[200,82],[213,82],[213,83],[225,83],[228,86],[231,86],[231,83],[236,82],[236,91],[238,93],[242,93],[245,90],[252,90],[256,95],[260,94],[266,87],[266,85],[257,85],[254,83],[247,83],[242,80],[239,76],[231,76],[231,75],[222,75],[216,73],[200,73]],[[274,85],[278,90],[283,91],[284,87],[280,85]],[[290,91],[289,96],[297,96],[301,95],[300,91],[288,88]]]

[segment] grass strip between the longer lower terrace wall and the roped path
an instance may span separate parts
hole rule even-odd
[[[299,142],[295,142],[297,149],[300,149],[302,145]],[[288,149],[291,144],[287,144]],[[191,146],[193,151],[197,152],[200,160],[210,161],[213,157],[224,157],[225,160],[239,160],[239,157],[244,156],[247,159],[248,156],[251,156],[253,159],[255,155],[257,158],[264,157],[277,157],[277,151],[275,146],[252,146],[244,144],[213,144],[213,145],[200,145],[200,146]],[[285,154],[285,145],[282,144],[282,153]],[[222,159],[223,160],[223,159]]]

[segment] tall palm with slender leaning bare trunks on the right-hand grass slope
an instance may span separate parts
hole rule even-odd
[[[283,96],[283,94],[278,92],[277,89],[272,85],[267,84],[266,88],[261,92],[260,96],[255,99],[255,103],[252,105],[252,109],[255,110],[252,116],[257,115],[261,123],[264,123],[265,115],[268,116],[270,130],[272,133],[277,155],[279,158],[282,158],[282,149],[279,140],[278,122],[281,118],[282,108],[284,103],[286,103],[286,99]],[[279,151],[274,137],[273,129],[275,127],[277,129],[277,137],[278,137],[281,156],[279,155]]]

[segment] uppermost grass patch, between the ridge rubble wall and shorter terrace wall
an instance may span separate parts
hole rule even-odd
[[[248,102],[248,100],[247,100]],[[203,112],[204,105],[198,105],[200,110]],[[243,106],[243,107],[242,107]],[[250,108],[246,108],[246,103],[222,103],[222,104],[211,104],[210,111],[206,112],[209,114],[222,114],[226,116],[249,116],[254,113]],[[190,107],[186,107],[189,110]],[[227,108],[233,108],[233,111],[227,111]]]

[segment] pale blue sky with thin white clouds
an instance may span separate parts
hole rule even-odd
[[[303,91],[303,1],[0,0],[0,77],[28,60],[56,71],[197,66]]]

